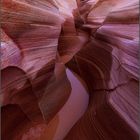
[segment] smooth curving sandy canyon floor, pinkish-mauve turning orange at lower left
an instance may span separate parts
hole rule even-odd
[[[30,129],[23,135],[22,140],[63,140],[73,125],[85,113],[89,101],[87,87],[83,80],[68,68],[66,73],[72,87],[67,102],[47,126],[38,125]],[[43,128],[42,131],[41,128]]]

